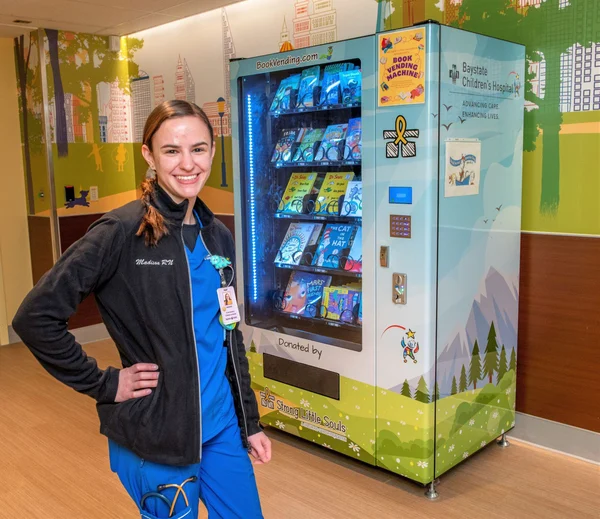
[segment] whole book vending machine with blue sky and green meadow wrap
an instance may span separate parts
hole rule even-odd
[[[231,77],[261,420],[432,483],[514,426],[524,48],[425,23]]]

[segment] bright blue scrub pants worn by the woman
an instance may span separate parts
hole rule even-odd
[[[159,498],[148,497],[140,507],[146,492],[155,492],[158,485],[180,485],[191,476],[196,482],[186,483],[183,489],[189,506],[180,494],[173,518],[197,519],[199,500],[208,510],[209,519],[262,519],[254,469],[242,445],[237,419],[214,438],[202,445],[200,463],[174,467],[145,461],[129,449],[109,440],[110,468],[140,509],[142,519],[169,517],[169,507]],[[165,489],[169,501],[177,489]]]

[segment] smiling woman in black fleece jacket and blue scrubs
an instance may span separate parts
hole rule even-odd
[[[221,318],[217,294],[234,284],[224,258],[235,251],[198,198],[215,154],[206,114],[182,100],[158,105],[142,153],[156,172],[142,199],[94,222],[13,327],[52,375],[97,401],[111,468],[143,516],[197,517],[202,496],[211,516],[261,518],[248,453],[267,463],[271,443],[242,333]],[[99,369],[67,331],[91,293],[121,369]]]

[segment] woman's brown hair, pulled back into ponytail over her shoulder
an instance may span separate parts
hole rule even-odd
[[[144,126],[143,144],[152,151],[152,137],[154,137],[154,134],[161,125],[168,119],[186,116],[199,117],[202,119],[210,133],[212,145],[214,143],[213,127],[204,110],[194,103],[180,99],[165,101],[152,110],[152,113],[148,116]],[[146,246],[148,247],[155,247],[164,236],[169,234],[169,228],[167,227],[165,218],[151,204],[152,193],[154,192],[157,182],[156,177],[151,179],[147,178],[140,186],[142,190],[141,201],[145,206],[146,214],[142,219],[142,223],[140,224],[136,235],[143,236]]]

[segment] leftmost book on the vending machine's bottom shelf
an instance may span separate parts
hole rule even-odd
[[[331,276],[312,272],[292,271],[283,295],[283,311],[315,317],[321,315],[323,289]]]

